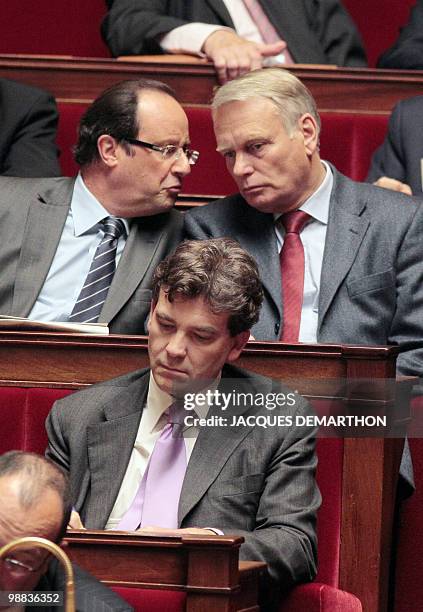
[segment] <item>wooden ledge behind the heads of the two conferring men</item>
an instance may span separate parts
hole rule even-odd
[[[177,62],[163,56],[84,59],[0,55],[0,77],[51,91],[60,101],[90,102],[106,87],[138,77],[165,81],[184,104],[209,104],[217,85],[213,66],[202,60]],[[398,100],[420,95],[422,71],[300,66],[289,68],[309,87],[319,110],[388,114]]]

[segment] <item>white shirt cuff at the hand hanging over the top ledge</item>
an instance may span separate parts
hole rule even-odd
[[[162,49],[169,53],[193,53],[204,57],[201,49],[210,34],[217,32],[217,30],[234,31],[232,28],[208,23],[187,23],[186,25],[174,28],[162,36],[159,42]]]

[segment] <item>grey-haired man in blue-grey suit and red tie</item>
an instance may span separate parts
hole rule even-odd
[[[240,194],[190,211],[186,232],[231,236],[256,258],[265,304],[254,337],[396,344],[398,371],[422,376],[421,203],[353,182],[322,162],[315,102],[285,70],[256,71],[222,86],[213,116],[218,151]],[[285,213],[295,211],[308,215],[296,234],[301,283],[290,277],[296,254],[285,257],[283,249]],[[294,310],[293,292],[300,292]]]

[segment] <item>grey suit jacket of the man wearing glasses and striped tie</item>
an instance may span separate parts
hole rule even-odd
[[[0,177],[0,314],[28,316],[62,234],[74,179]],[[143,334],[157,264],[181,239],[176,211],[131,221],[99,322],[118,334]],[[71,281],[71,279],[69,279]]]

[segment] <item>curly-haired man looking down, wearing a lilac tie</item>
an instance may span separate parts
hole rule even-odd
[[[56,402],[47,456],[69,472],[86,527],[242,535],[241,558],[265,561],[288,588],[316,572],[314,430],[296,423],[303,398],[231,365],[261,301],[256,263],[236,242],[182,243],[154,275],[151,370]],[[272,415],[255,397],[276,389],[291,426],[254,426]],[[178,400],[194,407],[184,438]]]

